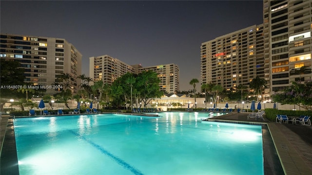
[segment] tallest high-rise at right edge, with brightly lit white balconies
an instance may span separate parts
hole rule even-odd
[[[312,1],[264,0],[263,17],[270,95],[292,81],[312,78]],[[303,67],[304,66],[304,67]]]

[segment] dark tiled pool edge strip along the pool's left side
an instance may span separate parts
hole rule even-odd
[[[0,175],[19,175],[13,119],[8,119],[0,158]]]

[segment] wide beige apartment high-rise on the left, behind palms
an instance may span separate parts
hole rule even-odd
[[[77,93],[77,76],[81,74],[82,55],[65,39],[1,34],[0,58],[20,62],[25,69],[25,82],[47,87],[47,94],[56,94],[59,89],[49,85],[56,84],[57,76],[69,74],[68,88]],[[64,88],[64,87],[63,87]]]

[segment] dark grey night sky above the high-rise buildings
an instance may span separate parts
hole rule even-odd
[[[143,67],[175,63],[183,91],[200,81],[201,43],[263,23],[262,9],[262,0],[0,0],[0,30],[66,39],[82,54],[86,76],[94,56]]]

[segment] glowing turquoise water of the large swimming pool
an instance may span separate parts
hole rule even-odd
[[[16,118],[20,175],[264,174],[261,126],[159,115]]]

